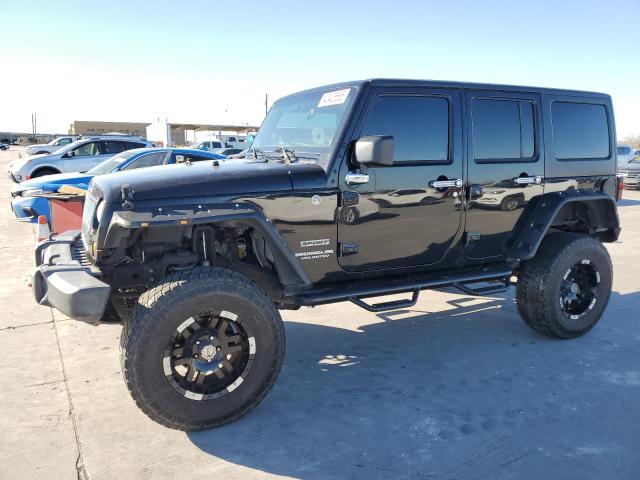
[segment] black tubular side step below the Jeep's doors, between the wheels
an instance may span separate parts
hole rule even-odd
[[[385,302],[383,304],[369,305],[362,302],[362,298],[392,295],[397,293],[415,292],[426,289],[434,289],[447,286],[455,286],[456,288],[465,287],[467,284],[496,281],[499,280],[505,285],[508,284],[508,279],[513,274],[513,265],[501,263],[496,266],[486,266],[481,269],[461,270],[457,273],[449,271],[447,274],[425,274],[425,275],[411,275],[404,277],[396,277],[393,279],[385,278],[380,280],[373,280],[370,282],[362,283],[336,283],[328,285],[325,288],[318,288],[313,290],[302,290],[294,292],[286,292],[286,303],[292,303],[294,305],[301,306],[314,306],[324,305],[328,303],[342,302],[344,300],[352,299],[359,300],[354,302],[356,305],[363,308],[382,308],[388,310],[391,307],[391,303],[395,305],[392,308],[402,308],[409,306],[408,304],[402,304],[408,302],[408,300],[401,300],[398,302]],[[467,288],[467,287],[465,287]],[[463,290],[465,291],[465,290]],[[470,289],[470,291],[473,291]],[[465,293],[469,293],[465,291]],[[495,293],[495,291],[486,292]],[[482,293],[474,293],[479,295]],[[415,295],[415,293],[414,293]],[[417,301],[417,298],[416,298]],[[410,302],[410,301],[409,301]],[[415,304],[415,302],[414,302]],[[365,307],[364,305],[367,305]],[[385,306],[386,305],[386,306]],[[412,304],[413,305],[413,304]],[[368,308],[367,308],[368,310]],[[370,311],[382,311],[382,310],[370,310]]]

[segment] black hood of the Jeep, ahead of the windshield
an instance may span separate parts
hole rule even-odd
[[[94,189],[107,202],[121,201],[122,185],[129,185],[133,201],[290,191],[294,185],[324,185],[318,165],[255,162],[197,162],[161,165],[109,173],[93,179]],[[297,179],[300,179],[299,181]],[[317,188],[317,187],[316,187]]]

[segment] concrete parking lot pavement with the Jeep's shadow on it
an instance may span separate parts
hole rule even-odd
[[[16,155],[0,152],[4,172]],[[34,304],[32,229],[12,218],[9,188],[3,175],[0,478],[638,478],[639,193],[620,203],[614,293],[589,335],[534,333],[512,294],[283,312],[287,356],[265,401],[187,434],[135,407],[120,326]]]

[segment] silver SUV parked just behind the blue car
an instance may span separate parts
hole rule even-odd
[[[125,150],[151,146],[146,140],[130,137],[78,140],[51,154],[32,155],[11,162],[9,176],[14,182],[22,182],[56,173],[86,171]]]

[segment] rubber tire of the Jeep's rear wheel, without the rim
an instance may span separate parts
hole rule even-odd
[[[572,319],[562,309],[560,294],[566,272],[574,265],[593,265],[599,283],[594,287],[592,308]],[[597,239],[574,233],[552,233],[542,241],[536,256],[523,262],[518,274],[516,302],[524,322],[555,338],[584,335],[602,317],[611,296],[613,269],[604,245]]]

